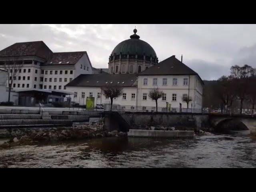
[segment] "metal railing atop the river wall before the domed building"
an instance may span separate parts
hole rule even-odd
[[[111,105],[110,104],[104,104],[104,111],[111,111]],[[124,113],[126,111],[127,112],[156,112],[156,107],[113,104],[112,105],[112,111],[117,111],[117,112],[120,112],[120,113]],[[202,109],[158,107],[157,112],[202,113]]]

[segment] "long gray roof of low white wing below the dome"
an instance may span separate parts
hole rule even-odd
[[[136,86],[136,74],[81,74],[66,86],[74,87],[102,87],[102,86]],[[107,82],[107,83],[106,83]]]

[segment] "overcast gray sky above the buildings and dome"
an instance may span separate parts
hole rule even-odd
[[[183,54],[184,64],[203,80],[229,74],[234,64],[256,68],[255,24],[0,24],[0,50],[42,40],[53,52],[87,51],[92,66],[108,68],[112,50],[134,26],[159,61]]]

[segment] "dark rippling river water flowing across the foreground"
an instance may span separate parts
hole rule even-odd
[[[2,141],[3,142],[3,141]],[[192,139],[97,138],[0,150],[8,168],[255,168],[248,131]]]

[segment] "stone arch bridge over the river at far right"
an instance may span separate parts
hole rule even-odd
[[[232,120],[238,120],[242,122],[250,133],[256,135],[256,117],[249,115],[225,115],[225,114],[209,114],[210,125],[214,128],[218,128],[221,125],[228,123]]]

